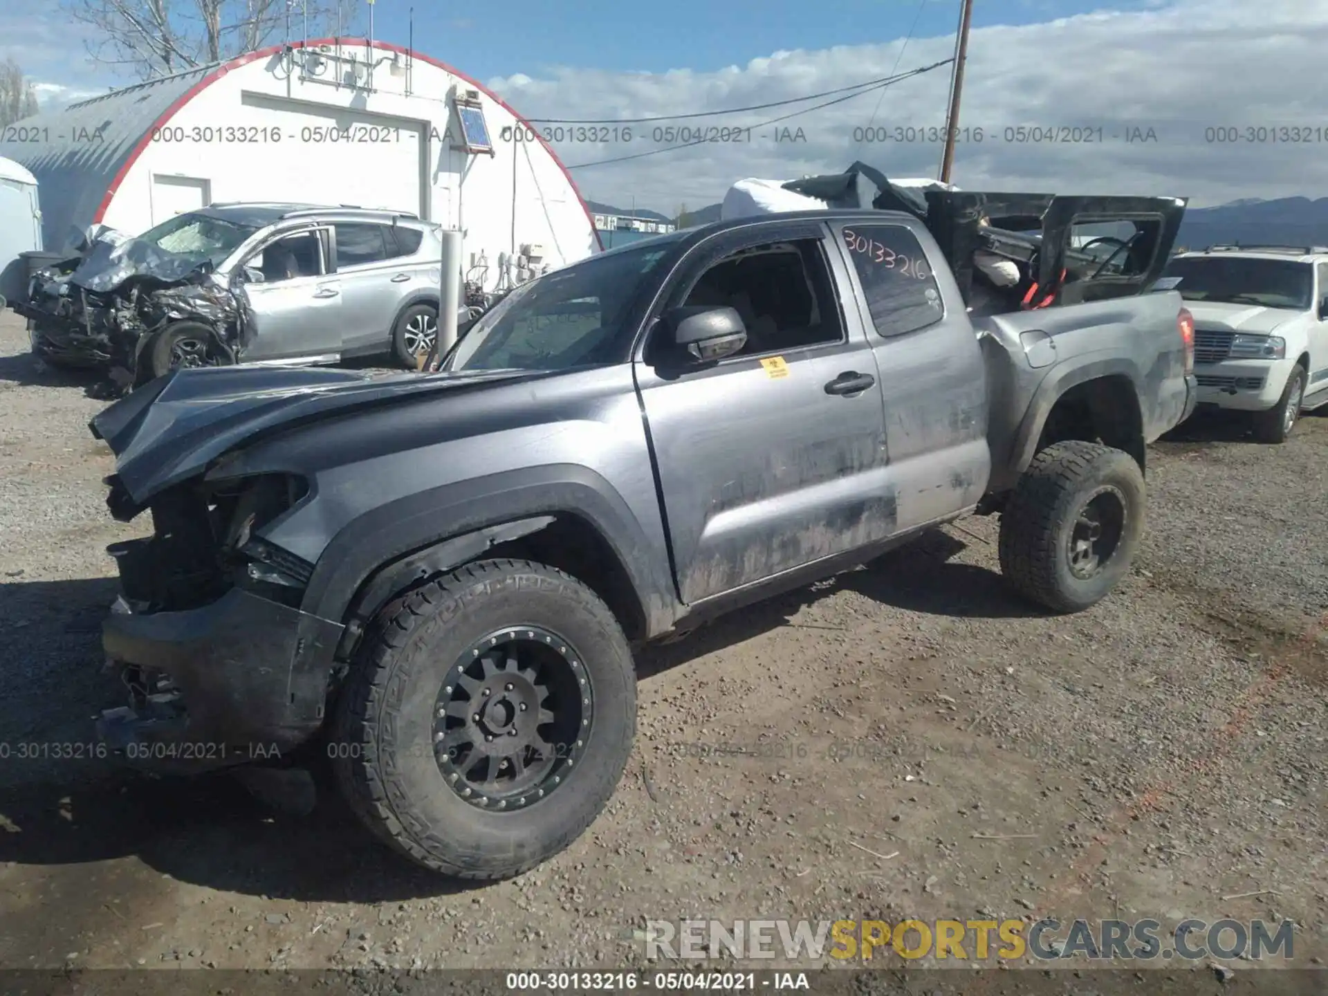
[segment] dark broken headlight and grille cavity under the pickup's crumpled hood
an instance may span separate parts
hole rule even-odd
[[[139,510],[118,478],[106,503],[118,519]],[[138,615],[181,612],[216,602],[235,587],[297,606],[313,566],[256,535],[308,494],[291,474],[219,482],[189,481],[149,505],[153,535],[112,543],[126,606]]]

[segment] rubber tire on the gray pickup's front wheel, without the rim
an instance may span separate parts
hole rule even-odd
[[[494,811],[461,798],[434,760],[434,706],[449,668],[487,633],[540,627],[575,647],[594,714],[575,768],[547,797]],[[564,850],[595,821],[627,766],[636,732],[631,648],[608,607],[559,570],[481,560],[389,603],[365,633],[333,714],[335,777],[356,815],[433,871],[518,875]]]

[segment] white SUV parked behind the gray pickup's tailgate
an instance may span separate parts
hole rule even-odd
[[[1252,412],[1264,442],[1328,404],[1328,248],[1182,252],[1157,286],[1178,290],[1194,315],[1199,404]]]

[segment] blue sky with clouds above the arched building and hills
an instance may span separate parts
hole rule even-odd
[[[187,5],[190,0],[174,0]],[[313,3],[315,0],[311,0]],[[327,0],[324,0],[327,1]],[[61,102],[129,82],[84,52],[89,31],[61,0],[0,3],[12,56]],[[239,3],[239,0],[235,0]],[[344,35],[363,36],[363,5]],[[954,179],[972,190],[1238,198],[1328,195],[1328,5],[1312,0],[976,0]],[[380,0],[374,35],[408,41],[410,0]],[[706,113],[749,141],[671,146],[651,129],[607,139],[551,135],[587,198],[672,214],[713,203],[737,179],[839,171],[865,159],[935,177],[948,66],[825,109],[793,101],[947,60],[959,0],[505,0],[414,5],[414,46],[499,93],[531,120]],[[292,17],[299,35],[299,15]],[[916,24],[915,24],[916,21]],[[904,37],[912,35],[904,45]],[[1291,82],[1288,82],[1291,81]],[[1296,82],[1299,81],[1299,82]],[[1303,85],[1299,85],[1303,84]],[[761,127],[785,110],[799,139]],[[681,122],[693,124],[693,122]],[[1311,141],[1288,145],[1289,125]],[[866,126],[866,127],[865,127]],[[1072,142],[1035,133],[1096,135]],[[1215,129],[1234,135],[1215,142]],[[1270,130],[1271,129],[1271,130]],[[586,129],[580,129],[586,131]],[[805,130],[805,137],[803,137]],[[866,131],[886,134],[865,138]],[[1149,141],[1130,142],[1127,134]]]

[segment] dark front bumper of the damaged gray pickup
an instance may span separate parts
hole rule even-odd
[[[108,659],[122,673],[167,676],[171,691],[104,712],[98,736],[154,769],[280,758],[323,725],[327,663],[343,628],[243,588],[147,615],[121,598],[102,625]]]

